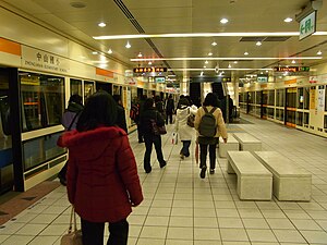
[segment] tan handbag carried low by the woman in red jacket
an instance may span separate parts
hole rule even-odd
[[[74,230],[73,230],[73,217],[74,217]],[[82,230],[77,230],[76,213],[72,206],[71,220],[68,233],[61,237],[60,245],[83,245]]]

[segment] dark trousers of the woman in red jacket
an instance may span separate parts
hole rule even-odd
[[[105,223],[95,223],[81,219],[83,245],[104,245]],[[123,219],[109,223],[107,245],[126,245],[129,238],[129,222]]]

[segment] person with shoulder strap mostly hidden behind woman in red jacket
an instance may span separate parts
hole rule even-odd
[[[83,98],[82,96],[75,94],[70,97],[69,106],[65,109],[61,123],[65,131],[72,131],[76,128],[78,117],[83,110]],[[65,174],[66,174],[68,161],[64,163],[60,172],[58,173],[58,179],[62,185],[66,185]]]

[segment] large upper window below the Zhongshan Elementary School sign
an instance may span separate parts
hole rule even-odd
[[[61,124],[64,109],[63,77],[21,72],[23,131]]]

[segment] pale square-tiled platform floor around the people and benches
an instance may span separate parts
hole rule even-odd
[[[298,245],[327,244],[326,138],[244,117],[254,124],[230,125],[230,132],[249,132],[295,160],[313,174],[310,203],[241,201],[235,175],[226,173],[218,159],[214,175],[199,179],[194,154],[180,160],[180,145],[170,144],[172,126],[162,137],[168,164],[160,169],[153,154],[153,172],[143,171],[144,145],[131,144],[138,163],[145,200],[129,218],[130,245]],[[192,151],[194,145],[191,146]],[[0,244],[60,244],[66,231],[69,203],[59,187],[0,229]],[[107,233],[107,232],[106,232]],[[107,233],[108,235],[108,233]]]

